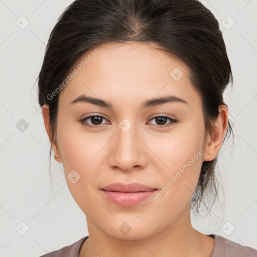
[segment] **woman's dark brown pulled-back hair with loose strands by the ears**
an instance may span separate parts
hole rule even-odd
[[[51,99],[48,96],[85,52],[104,43],[129,41],[154,42],[188,66],[190,81],[202,100],[205,140],[207,133],[211,135],[218,107],[226,105],[223,92],[229,81],[233,84],[226,46],[214,15],[196,0],[76,0],[53,28],[38,76],[39,104],[49,105],[51,146],[56,142],[59,94]],[[228,122],[225,139],[231,133]],[[202,163],[191,199],[196,212],[211,192],[212,205],[216,201],[217,157]]]

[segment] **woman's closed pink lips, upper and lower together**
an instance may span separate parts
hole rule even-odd
[[[115,204],[133,206],[148,199],[157,191],[157,188],[139,183],[114,183],[102,188],[101,191],[108,200]]]

